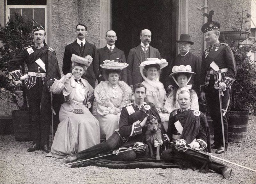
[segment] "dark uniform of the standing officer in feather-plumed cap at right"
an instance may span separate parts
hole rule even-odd
[[[210,64],[214,61],[219,67],[219,71],[214,71]],[[224,71],[224,72],[223,72]],[[222,96],[222,108],[228,109],[230,98],[230,87],[235,81],[236,77],[236,61],[234,54],[228,44],[216,43],[208,47],[202,56],[201,67],[201,91],[206,94],[207,104],[210,110],[210,115],[213,120],[214,128],[214,144],[216,146],[223,146],[221,117],[220,117],[220,103],[218,89],[214,88],[215,81],[219,80],[227,85],[224,96]],[[225,115],[225,112],[224,112]],[[227,117],[223,116],[225,145],[228,146],[228,122]]]

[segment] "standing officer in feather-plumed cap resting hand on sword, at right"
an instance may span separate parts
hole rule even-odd
[[[213,120],[214,144],[213,149],[216,153],[224,152],[219,90],[222,91],[222,113],[224,124],[225,147],[228,147],[228,122],[225,116],[230,98],[230,87],[236,77],[236,61],[234,54],[228,44],[220,43],[220,23],[212,21],[213,11],[204,16],[208,17],[208,22],[202,26],[205,40],[210,46],[204,51],[201,67],[201,100],[206,100],[210,115]],[[226,151],[226,150],[225,150]]]

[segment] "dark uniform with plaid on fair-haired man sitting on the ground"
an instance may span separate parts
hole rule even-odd
[[[196,112],[196,113],[194,113]],[[204,148],[204,144],[207,144],[207,149],[205,148],[204,151],[211,152],[211,144],[210,144],[210,131],[209,126],[207,124],[207,120],[205,115],[199,111],[188,110],[184,112],[180,112],[180,110],[174,110],[170,114],[169,119],[169,127],[167,131],[167,136],[169,135],[170,138],[174,137],[175,140],[179,133],[176,129],[174,123],[180,121],[182,127],[184,128],[180,138],[185,139],[186,142],[189,144],[191,140],[196,138],[196,141],[199,141],[200,147]],[[175,135],[175,136],[173,136]],[[203,147],[204,146],[204,147]],[[201,168],[205,162],[209,161],[208,156],[201,154],[199,152],[193,150],[177,151],[174,148],[165,150],[161,155],[161,159],[165,162],[172,162],[172,163],[179,163],[182,162],[191,162],[193,166],[197,167],[198,169]],[[225,164],[222,164],[216,160],[211,160],[208,164],[209,169],[221,174],[221,168],[228,167]]]

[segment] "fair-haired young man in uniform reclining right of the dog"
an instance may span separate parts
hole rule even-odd
[[[232,169],[227,165],[213,159],[209,160],[207,155],[193,151],[195,149],[211,152],[210,130],[205,115],[198,110],[190,109],[191,98],[188,91],[181,91],[179,93],[178,103],[180,109],[171,112],[168,130],[165,134],[167,139],[163,139],[163,145],[168,144],[172,140],[173,146],[162,153],[161,159],[165,162],[178,164],[190,162],[193,166],[201,168],[200,170],[208,167],[222,174],[224,178],[228,178]],[[155,141],[155,146],[159,144]],[[192,150],[183,150],[177,145],[187,145]],[[181,166],[182,164],[179,165]]]

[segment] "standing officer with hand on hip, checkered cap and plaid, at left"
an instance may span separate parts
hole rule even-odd
[[[60,79],[61,75],[56,54],[44,41],[46,38],[44,28],[41,25],[33,26],[33,34],[35,45],[26,47],[13,58],[8,70],[15,81],[25,81],[27,87],[33,135],[33,145],[27,151],[34,152],[41,148],[44,152],[50,152],[49,131],[52,112],[49,87],[53,79]],[[28,74],[22,74],[20,70],[20,65],[24,62],[28,66]],[[58,99],[60,102],[61,100]]]

